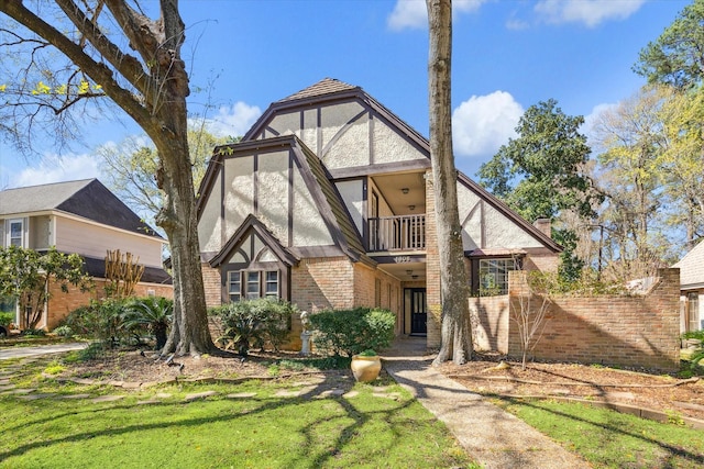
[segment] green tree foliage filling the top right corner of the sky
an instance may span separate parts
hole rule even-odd
[[[674,22],[638,56],[634,71],[650,83],[676,88],[701,86],[704,80],[704,0],[686,5]]]

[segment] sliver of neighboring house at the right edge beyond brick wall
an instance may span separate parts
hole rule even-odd
[[[680,269],[681,332],[704,330],[704,242],[672,267]]]

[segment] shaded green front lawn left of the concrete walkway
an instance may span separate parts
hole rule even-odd
[[[8,366],[18,362],[0,362],[0,368]],[[356,395],[338,398],[319,398],[315,391],[276,395],[306,386],[290,380],[128,392],[63,384],[41,375],[57,366],[48,359],[23,365],[13,383],[36,387],[36,393],[124,399],[94,403],[0,395],[0,434],[7,436],[0,438],[0,468],[475,467],[444,425],[389,379],[354,384]],[[317,386],[334,387],[334,379],[331,373]],[[188,393],[206,390],[218,394],[185,402]],[[373,395],[380,392],[385,397]],[[139,404],[157,393],[158,403]],[[255,395],[228,399],[229,393]]]

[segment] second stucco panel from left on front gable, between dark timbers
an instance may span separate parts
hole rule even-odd
[[[246,215],[254,212],[253,174],[253,156],[224,161],[224,239],[230,239]]]

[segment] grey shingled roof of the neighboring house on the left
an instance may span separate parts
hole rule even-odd
[[[70,213],[108,226],[162,237],[95,178],[0,192],[0,216],[47,211]]]

